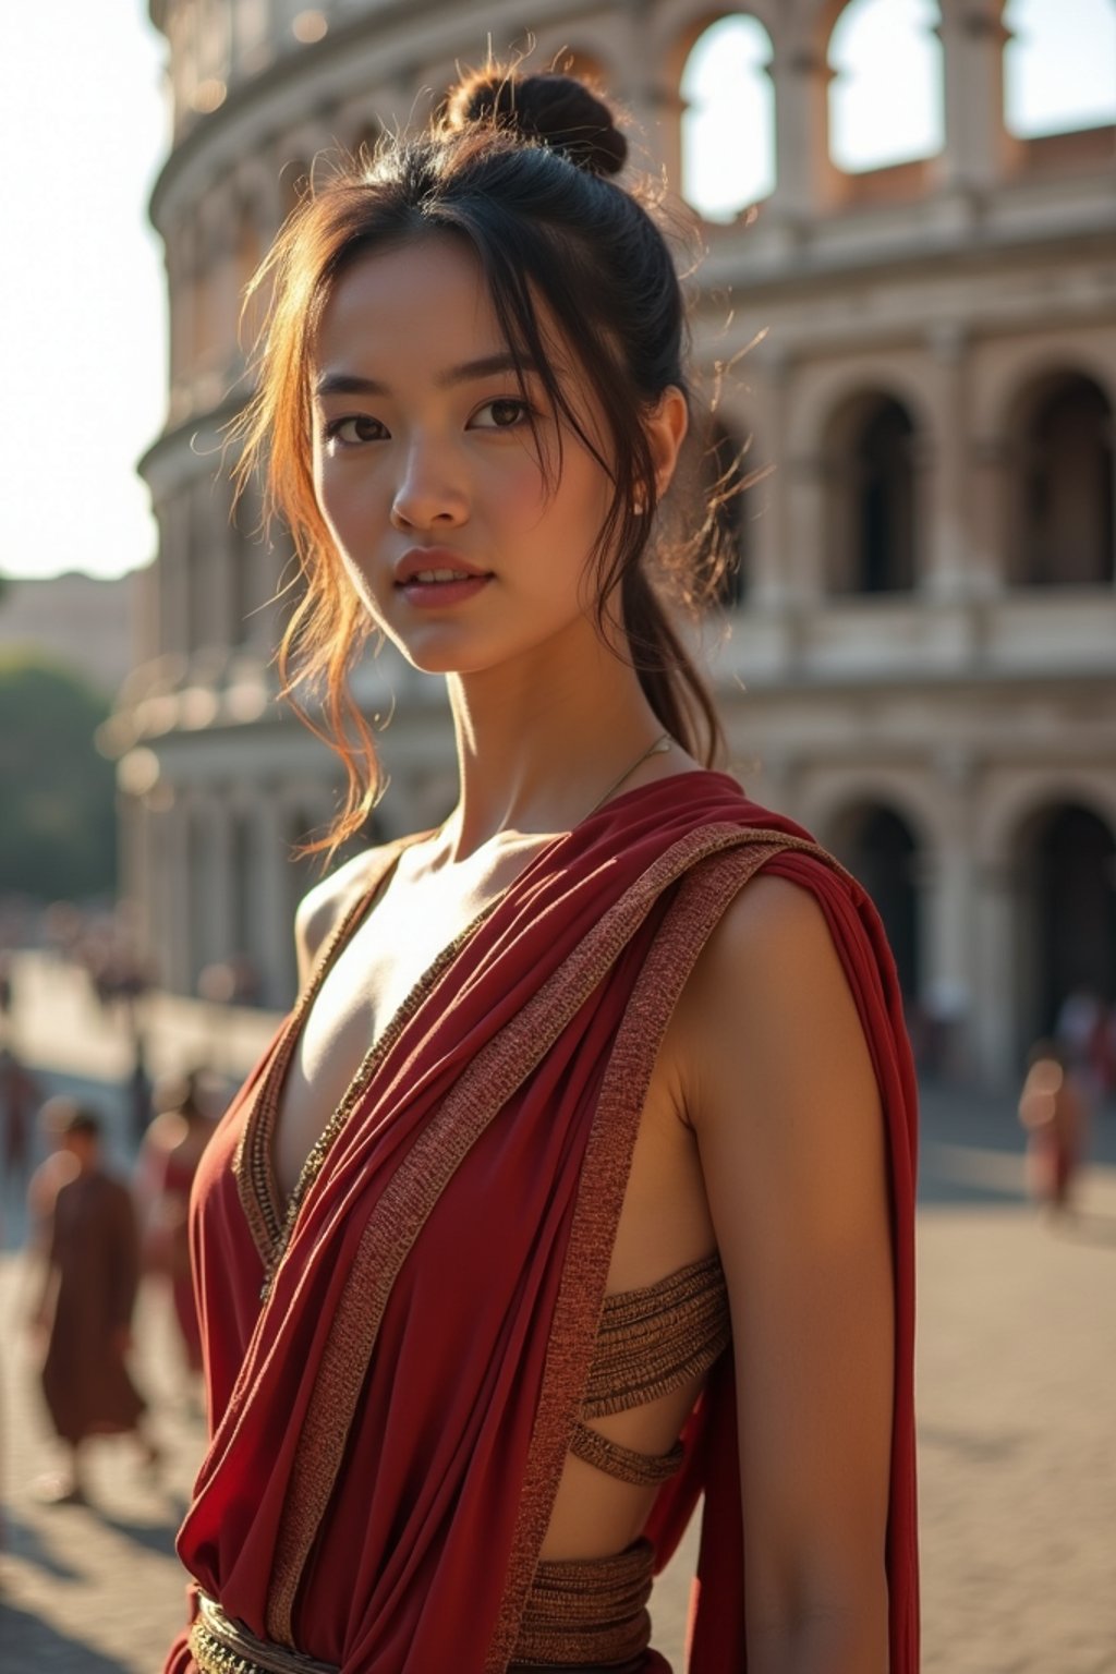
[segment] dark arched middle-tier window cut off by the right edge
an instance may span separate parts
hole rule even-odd
[[[1113,408],[1081,373],[1047,378],[1022,407],[1016,450],[1016,579],[1029,588],[1114,578]]]

